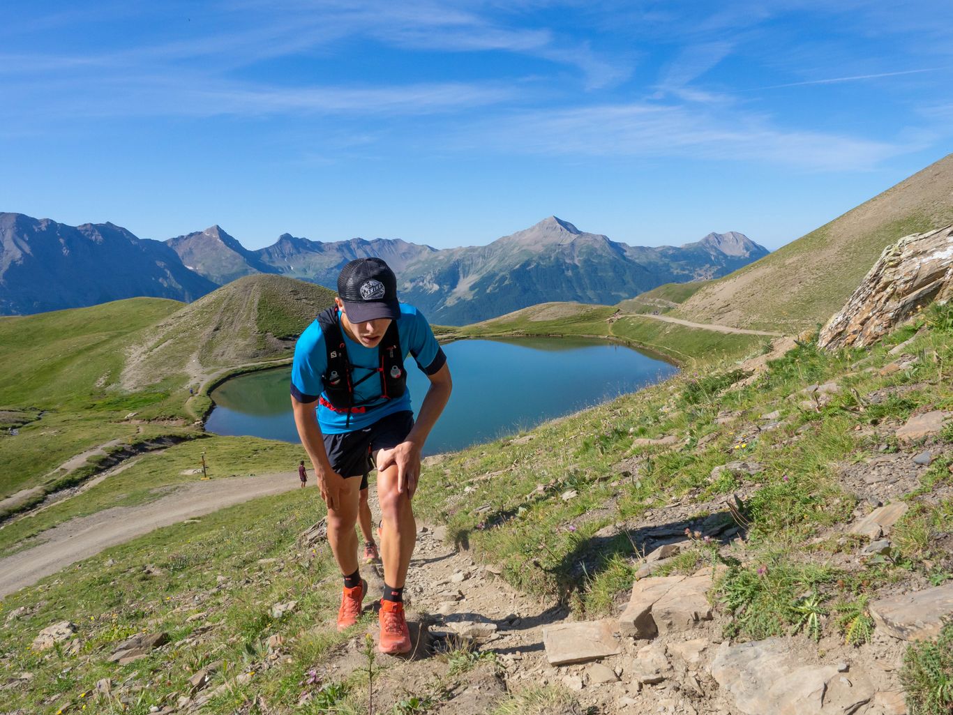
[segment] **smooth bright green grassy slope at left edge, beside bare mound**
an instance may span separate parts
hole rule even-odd
[[[131,412],[180,416],[181,400],[172,398],[169,383],[130,394],[120,389],[119,376],[140,331],[181,307],[174,300],[130,298],[0,318],[0,406],[25,410],[30,419],[16,435],[0,432],[0,499],[92,446],[174,430],[124,420]]]

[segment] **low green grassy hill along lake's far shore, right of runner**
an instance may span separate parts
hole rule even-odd
[[[645,294],[643,294],[645,295]],[[765,338],[725,335],[639,317],[616,307],[583,303],[542,303],[453,332],[455,337],[589,336],[616,339],[681,365],[738,358],[757,351]],[[627,306],[626,306],[627,308]]]

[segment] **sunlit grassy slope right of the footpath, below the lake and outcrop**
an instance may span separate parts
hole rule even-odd
[[[953,307],[938,309],[937,317],[922,317],[868,351],[829,354],[805,342],[740,389],[731,388],[738,376],[734,364],[725,361],[543,424],[533,439],[499,439],[446,455],[425,472],[418,508],[432,521],[447,522],[451,535],[479,559],[502,564],[504,577],[517,588],[556,597],[580,616],[595,617],[612,612],[631,587],[647,510],[690,501],[700,514],[689,521],[700,523],[712,510],[724,513],[725,498],[744,488],[740,514],[747,522],[748,548],[766,555],[760,558],[767,560],[772,576],[766,581],[771,587],[752,596],[759,604],[754,612],[744,609],[750,623],[740,625],[739,633],[756,637],[769,628],[790,630],[799,624],[801,630],[814,629],[822,622],[818,609],[832,612],[835,604],[850,603],[878,583],[902,579],[911,570],[943,578],[930,564],[937,558],[931,544],[943,520],[953,518],[945,501],[913,508],[897,527],[900,556],[870,562],[861,575],[817,565],[825,549],[852,548],[850,543],[819,541],[806,551],[795,545],[825,540],[850,521],[857,498],[841,487],[836,465],[878,454],[880,440],[865,437],[864,430],[883,420],[899,424],[918,406],[953,398],[948,378],[942,378],[953,364],[953,331],[942,319],[950,311]],[[921,325],[927,330],[909,350],[935,351],[937,359],[880,376],[877,368],[894,359],[887,350]],[[858,361],[872,370],[863,372]],[[799,404],[806,398],[803,388],[830,380],[842,390],[820,410]],[[904,400],[872,405],[864,398],[914,383],[926,387],[908,392]],[[779,428],[752,431],[749,425],[760,415],[775,411],[781,413]],[[726,413],[739,417],[720,422],[719,415]],[[633,446],[635,438],[665,436],[678,442],[668,448]],[[700,439],[706,441],[703,448]],[[726,472],[710,477],[714,467],[730,460],[756,461],[762,471],[755,477]],[[947,483],[946,466],[938,460],[926,472],[923,488]],[[466,476],[462,484],[461,475]],[[561,495],[568,490],[578,496],[564,501]],[[664,514],[659,510],[648,524],[661,525]],[[631,538],[598,537],[609,524],[628,525]],[[690,570],[706,558],[687,554],[680,567]],[[735,578],[743,576],[753,587],[759,583],[751,577],[756,572],[757,564],[746,565]],[[832,585],[840,581],[842,586]],[[862,589],[860,582],[865,582]],[[817,601],[802,601],[811,589],[817,589]],[[770,608],[768,597],[778,599]]]

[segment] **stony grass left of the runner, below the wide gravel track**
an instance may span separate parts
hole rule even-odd
[[[313,492],[298,491],[248,502],[112,548],[10,597],[0,623],[19,605],[36,610],[0,625],[3,667],[34,679],[29,688],[6,691],[6,704],[30,712],[78,710],[94,702],[98,680],[111,678],[113,692],[124,682],[142,687],[127,693],[126,712],[144,714],[167,695],[187,691],[187,679],[201,666],[219,661],[210,688],[231,687],[203,712],[231,713],[257,695],[291,709],[302,690],[311,689],[299,685],[308,670],[349,637],[331,625],[339,583],[326,547],[313,558],[289,558],[297,534],[319,516],[317,504]],[[257,563],[265,558],[278,561]],[[146,574],[146,563],[162,575]],[[298,603],[296,610],[275,621],[271,606],[289,600]],[[187,621],[203,611],[207,618]],[[79,627],[78,654],[31,650],[40,629],[63,620]],[[213,627],[203,633],[206,622]],[[133,664],[106,662],[115,644],[143,630],[167,632],[171,644]],[[264,641],[272,634],[288,642],[290,663],[267,661]],[[95,709],[118,712],[119,705]]]

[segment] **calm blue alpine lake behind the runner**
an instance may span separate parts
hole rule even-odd
[[[678,368],[598,339],[525,337],[444,344],[454,393],[427,439],[425,455],[463,449],[591,407],[668,378]],[[429,381],[405,360],[416,412]],[[212,392],[206,429],[297,442],[291,367],[241,375]]]

